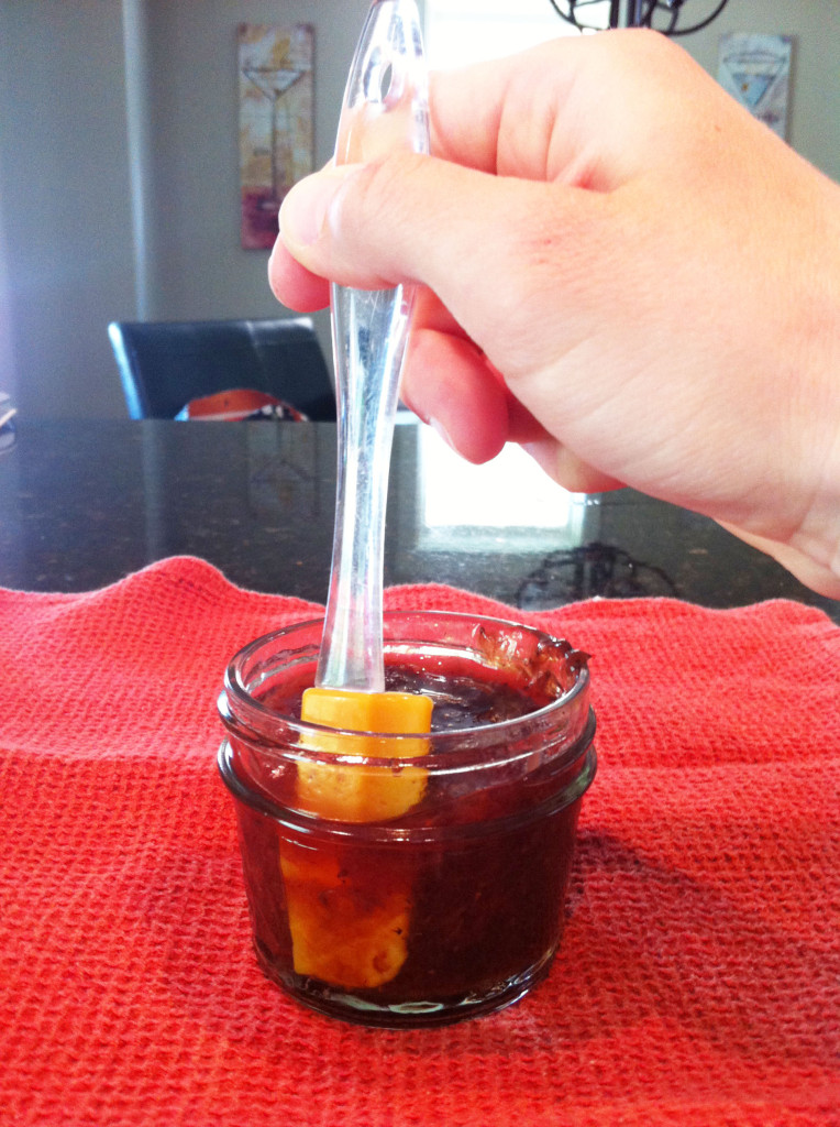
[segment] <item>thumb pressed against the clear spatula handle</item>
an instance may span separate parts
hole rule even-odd
[[[558,272],[580,269],[580,248],[596,247],[582,228],[595,225],[598,198],[395,153],[376,165],[328,166],[301,180],[280,208],[280,239],[307,270],[341,285],[429,286],[493,352],[502,332],[517,343],[518,321],[533,336],[540,294],[547,302],[553,293],[556,316]],[[574,252],[566,256],[561,242]],[[507,360],[493,357],[502,370]]]

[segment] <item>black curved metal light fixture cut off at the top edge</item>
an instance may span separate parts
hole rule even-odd
[[[729,0],[548,0],[581,32],[652,27],[663,35],[690,35],[717,19]]]

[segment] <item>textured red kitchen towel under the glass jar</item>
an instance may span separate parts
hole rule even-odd
[[[838,627],[787,602],[386,597],[592,655],[599,773],[547,980],[394,1032],[260,974],[215,696],[235,649],[319,607],[187,558],[0,592],[0,1124],[840,1124]]]

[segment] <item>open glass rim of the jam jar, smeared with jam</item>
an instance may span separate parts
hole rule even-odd
[[[225,724],[235,724],[240,734],[269,748],[280,746],[286,753],[294,744],[309,754],[307,737],[318,744],[324,729],[300,719],[300,696],[314,683],[322,629],[323,621],[313,619],[243,647],[227,666],[220,696]],[[435,699],[432,758],[425,760],[429,765],[439,756],[454,767],[453,756],[480,756],[491,744],[513,748],[524,734],[548,733],[558,724],[573,739],[586,721],[588,655],[536,628],[452,612],[397,612],[385,616],[384,647],[387,687],[428,692]],[[484,689],[492,701],[489,720],[453,721],[444,690],[454,682]],[[481,712],[477,706],[475,712]],[[358,733],[343,729],[339,735]],[[376,762],[393,758],[396,765],[404,758],[399,748],[427,734],[368,735],[395,748],[393,756],[377,756]],[[347,758],[364,762],[365,756]]]

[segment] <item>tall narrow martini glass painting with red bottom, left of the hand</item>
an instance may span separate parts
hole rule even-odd
[[[239,27],[239,168],[242,246],[270,248],[277,211],[313,169],[314,29]]]

